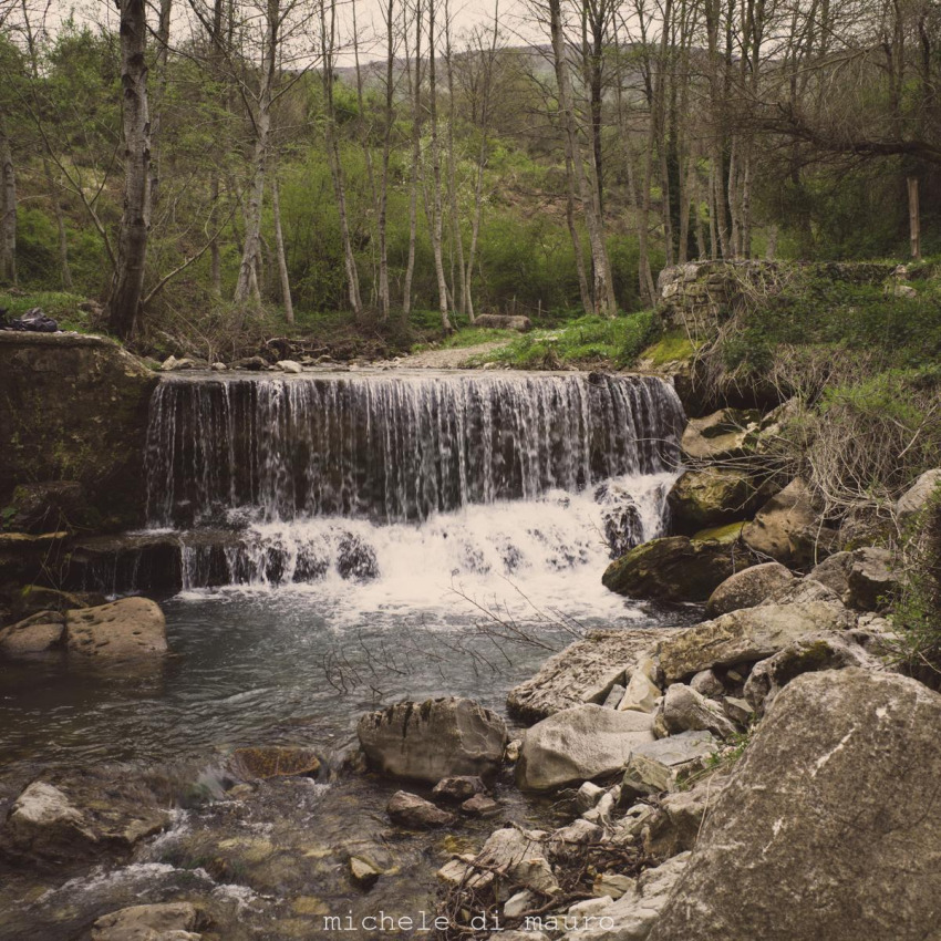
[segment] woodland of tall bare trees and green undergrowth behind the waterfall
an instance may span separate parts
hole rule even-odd
[[[638,310],[687,260],[938,249],[929,0],[472,7],[2,0],[0,285],[125,340],[447,332]]]

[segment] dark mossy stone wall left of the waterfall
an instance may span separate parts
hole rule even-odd
[[[72,482],[83,494],[80,525],[138,525],[157,382],[113,340],[0,331],[0,509],[18,487],[20,499],[29,485]],[[12,514],[4,511],[4,523]]]

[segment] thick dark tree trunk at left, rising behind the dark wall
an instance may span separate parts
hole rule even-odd
[[[108,328],[122,339],[137,324],[151,228],[151,118],[147,110],[147,8],[117,0],[124,127],[124,211],[108,300]]]

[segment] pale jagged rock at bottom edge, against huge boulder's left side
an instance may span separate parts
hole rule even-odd
[[[603,911],[596,912],[593,923],[563,934],[563,941],[645,941],[680,882],[689,859],[689,852],[681,852],[655,869],[644,870],[632,892],[625,892]],[[742,935],[743,939],[753,937]],[[693,938],[695,935],[687,935],[684,941]],[[700,941],[699,938],[695,941]]]

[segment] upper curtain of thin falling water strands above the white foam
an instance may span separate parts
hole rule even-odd
[[[681,422],[653,378],[173,378],[151,407],[148,519],[422,521],[672,469]]]

